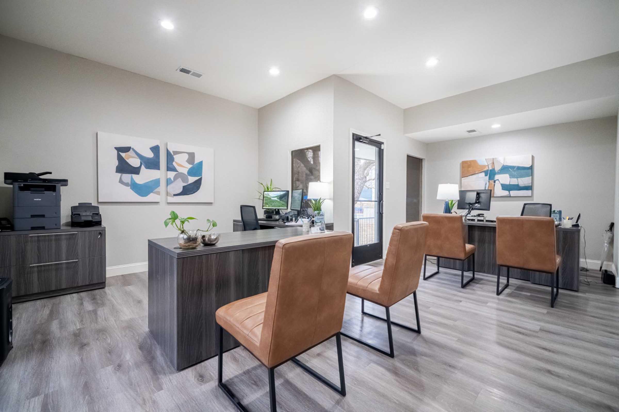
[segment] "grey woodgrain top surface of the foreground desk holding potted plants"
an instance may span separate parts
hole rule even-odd
[[[301,227],[285,227],[277,230],[249,230],[247,232],[220,233],[217,245],[197,246],[195,249],[175,249],[176,237],[149,239],[149,246],[154,246],[175,258],[186,258],[199,254],[222,253],[233,250],[258,248],[275,245],[278,240],[303,235]]]

